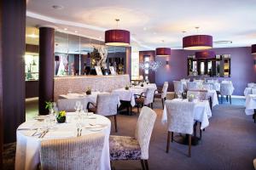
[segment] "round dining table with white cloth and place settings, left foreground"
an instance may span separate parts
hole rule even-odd
[[[82,129],[81,136],[92,133],[105,134],[100,169],[110,169],[109,134],[111,122],[107,117],[92,113],[85,113],[79,116],[75,112],[67,112],[66,122],[64,123],[50,122],[49,120],[49,116],[38,116],[34,120],[22,123],[17,128],[16,170],[38,169],[41,141],[79,138],[78,127]],[[43,132],[47,133],[41,135]]]

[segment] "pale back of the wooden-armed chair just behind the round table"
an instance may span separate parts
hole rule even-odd
[[[118,94],[98,94],[96,102],[96,114],[102,116],[116,115],[118,105]]]

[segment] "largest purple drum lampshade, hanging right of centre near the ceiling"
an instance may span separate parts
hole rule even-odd
[[[183,37],[183,49],[203,50],[212,48],[212,36],[194,35]]]

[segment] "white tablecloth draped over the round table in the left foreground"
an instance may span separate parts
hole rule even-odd
[[[45,139],[59,139],[59,138],[78,138],[77,127],[76,127],[76,116],[75,113],[67,113],[68,123],[55,123],[55,128],[49,130],[43,139],[38,139],[37,137],[32,137],[32,133],[35,130],[21,130],[21,128],[38,128],[44,127],[44,122],[38,122],[36,120],[24,122],[18,127],[17,133],[17,144],[16,144],[16,157],[15,157],[15,169],[26,169],[33,170],[37,169],[38,163],[40,163],[40,143]],[[101,158],[101,169],[110,169],[110,158],[109,158],[109,134],[111,122],[105,116],[92,115],[90,119],[84,119],[83,127],[88,127],[91,124],[102,124],[106,125],[102,127],[101,131],[93,132],[89,128],[83,128],[82,135],[88,135],[91,133],[104,133],[105,140],[102,150]],[[20,129],[20,130],[19,130]]]

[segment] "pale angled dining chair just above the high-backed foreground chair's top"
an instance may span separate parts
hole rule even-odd
[[[154,89],[155,88],[147,88],[146,92],[142,94],[134,94],[136,97],[135,102],[137,106],[137,113],[139,113],[139,108],[147,105],[153,109],[153,102],[154,102]]]

